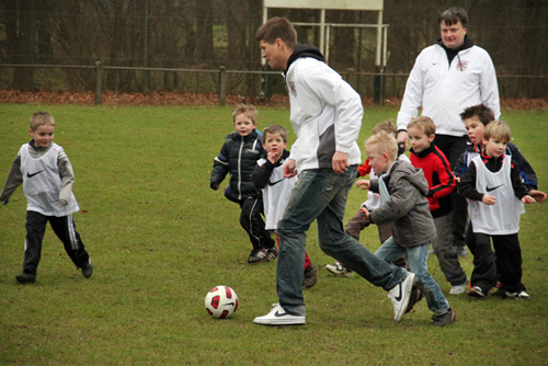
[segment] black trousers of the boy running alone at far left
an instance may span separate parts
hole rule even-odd
[[[65,251],[76,266],[79,268],[84,266],[90,258],[83,247],[80,235],[76,231],[72,215],[55,217],[45,216],[36,211],[26,211],[25,260],[23,262],[23,273],[36,275],[42,256],[42,241],[46,232],[47,221],[49,221],[57,238],[62,241]]]

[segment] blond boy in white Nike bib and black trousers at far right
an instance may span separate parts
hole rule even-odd
[[[458,185],[458,193],[469,199],[468,213],[476,239],[470,277],[470,295],[475,297],[487,296],[496,284],[499,270],[507,297],[529,298],[522,284],[517,232],[520,216],[525,213],[523,204],[534,204],[535,198],[528,194],[512,157],[504,153],[510,139],[510,127],[505,123],[489,123],[483,131],[481,155],[471,160]]]

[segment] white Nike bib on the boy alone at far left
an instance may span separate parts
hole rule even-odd
[[[45,216],[67,216],[80,209],[73,193],[62,206],[59,202],[61,178],[57,167],[59,153],[64,150],[53,144],[42,157],[33,158],[28,152],[32,147],[24,144],[19,151],[21,157],[21,173],[23,174],[23,192],[27,199],[26,210],[37,211]]]

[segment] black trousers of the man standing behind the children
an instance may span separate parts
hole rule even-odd
[[[467,142],[468,136],[436,135],[434,139],[435,146],[445,155],[452,169],[455,169],[458,158],[466,151]],[[457,190],[450,194],[450,202],[453,206],[453,244],[458,248],[465,247],[468,203],[464,196],[457,193]]]

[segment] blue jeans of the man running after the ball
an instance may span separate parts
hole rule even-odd
[[[276,289],[279,305],[288,313],[306,314],[302,295],[306,231],[316,219],[320,249],[375,286],[389,290],[407,277],[407,271],[380,260],[344,231],[346,198],[356,172],[357,167],[352,165],[343,174],[336,174],[332,169],[299,173],[277,226]]]

